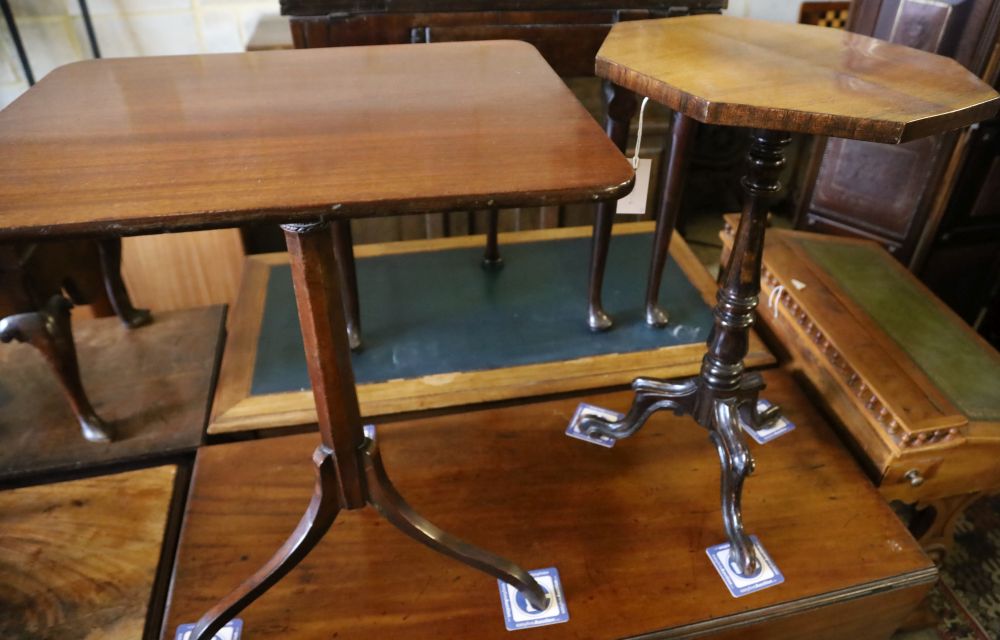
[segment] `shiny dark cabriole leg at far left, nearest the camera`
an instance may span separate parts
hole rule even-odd
[[[66,298],[55,295],[38,311],[0,320],[0,342],[26,342],[42,352],[69,400],[83,437],[90,442],[111,442],[114,429],[94,411],[80,380],[80,365],[73,344],[70,309]]]

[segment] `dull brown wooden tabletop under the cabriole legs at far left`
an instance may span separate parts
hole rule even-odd
[[[222,307],[158,314],[129,331],[117,318],[74,326],[83,382],[116,431],[86,442],[42,356],[0,349],[0,483],[196,449],[202,442],[223,342]]]

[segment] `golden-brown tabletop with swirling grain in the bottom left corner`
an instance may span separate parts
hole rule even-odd
[[[164,466],[0,492],[0,636],[155,637],[144,628],[176,474]]]

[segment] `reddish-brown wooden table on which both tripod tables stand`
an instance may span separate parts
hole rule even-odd
[[[532,632],[540,637],[888,638],[935,571],[790,378],[765,378],[763,396],[797,429],[754,446],[745,511],[786,580],[738,600],[705,555],[724,533],[714,448],[700,427],[662,412],[641,441],[612,450],[564,435],[581,400],[624,410],[630,392],[397,422],[379,426],[379,440],[422,513],[528,568],[559,569],[570,621]],[[309,499],[303,461],[316,442],[199,451],[165,638],[288,535]],[[341,516],[243,612],[248,637],[509,636],[496,581],[414,545],[372,511]],[[869,599],[883,590],[886,600]],[[886,608],[872,616],[879,602]]]

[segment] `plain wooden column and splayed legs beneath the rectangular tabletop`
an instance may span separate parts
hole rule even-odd
[[[518,589],[536,608],[548,595],[529,573],[431,524],[389,481],[374,428],[362,425],[344,320],[341,270],[329,223],[285,225],[306,363],[316,399],[321,444],[313,455],[316,488],[298,527],[253,576],[202,616],[192,640],[210,640],[240,611],[292,570],[318,543],[341,509],[369,505],[406,535]]]

